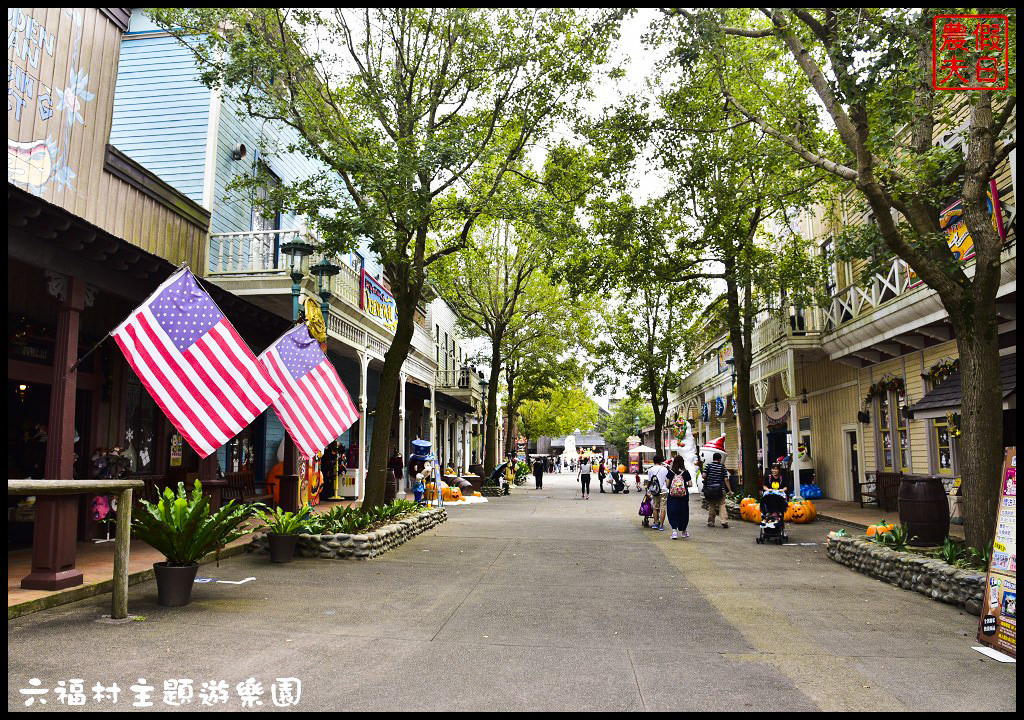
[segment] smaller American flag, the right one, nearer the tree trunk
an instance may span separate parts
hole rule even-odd
[[[281,391],[273,409],[307,458],[323,452],[359,419],[334,366],[304,325],[282,335],[259,361]]]

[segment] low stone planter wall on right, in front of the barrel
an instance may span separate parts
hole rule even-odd
[[[934,557],[899,552],[860,538],[830,535],[825,552],[830,559],[858,573],[957,605],[972,615],[981,613],[984,573],[954,567]]]

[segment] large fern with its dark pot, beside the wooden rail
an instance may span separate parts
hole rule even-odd
[[[185,483],[178,482],[177,493],[165,488],[160,502],[143,500],[141,505],[132,517],[132,532],[167,558],[153,563],[157,601],[165,607],[188,604],[200,558],[244,536],[249,527],[239,525],[254,510],[232,500],[211,514],[210,499],[203,495],[199,480],[190,496]]]

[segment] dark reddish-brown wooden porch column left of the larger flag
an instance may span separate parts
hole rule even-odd
[[[53,294],[52,288],[50,292]],[[53,382],[50,386],[50,414],[46,427],[45,475],[46,479],[70,480],[75,464],[75,391],[78,389],[78,371],[68,372],[68,369],[78,361],[78,330],[81,313],[85,308],[85,283],[80,278],[68,277],[63,282],[63,291],[57,290],[56,294],[60,306],[57,308]],[[85,443],[86,438],[83,437],[84,451]],[[22,580],[23,588],[62,590],[82,584],[82,571],[75,567],[78,498],[77,495],[36,497],[32,573]]]

